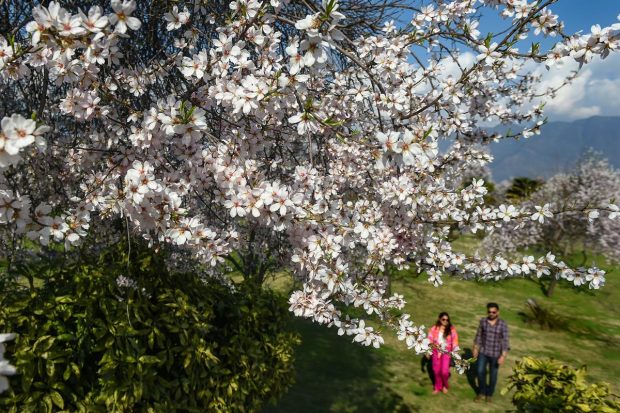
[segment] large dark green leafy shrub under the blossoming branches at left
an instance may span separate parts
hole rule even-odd
[[[148,249],[128,264],[123,250],[22,266],[4,283],[18,374],[0,411],[250,412],[283,394],[298,338],[281,297],[170,274]]]

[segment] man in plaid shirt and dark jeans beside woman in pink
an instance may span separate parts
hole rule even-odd
[[[499,318],[499,305],[487,304],[487,317],[480,320],[474,340],[474,357],[478,358],[478,394],[475,401],[490,403],[497,383],[497,369],[504,364],[510,345],[508,325]],[[487,370],[489,381],[487,381]]]

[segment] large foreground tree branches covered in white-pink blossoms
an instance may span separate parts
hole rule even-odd
[[[554,0],[408,2],[406,24],[363,36],[344,7],[354,1],[50,2],[28,16],[24,3],[0,38],[7,256],[24,237],[70,249],[122,223],[214,274],[232,266],[260,284],[283,266],[302,286],[296,315],[375,347],[393,331],[417,353],[428,340],[386,292],[388,266],[426,270],[437,286],[567,274],[551,254],[455,252],[454,225],[537,225],[540,212],[485,206],[482,180],[456,178],[490,162],[480,145],[502,136],[484,124],[538,131],[537,102],[555,90],[532,65],[605,58],[618,24],[566,34]],[[506,30],[482,37],[483,13]],[[520,48],[536,36],[557,43]],[[452,141],[442,153],[440,139]]]

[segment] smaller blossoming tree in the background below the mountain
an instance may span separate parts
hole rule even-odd
[[[581,251],[584,265],[588,251],[618,261],[620,221],[616,217],[619,209],[612,203],[617,199],[620,199],[620,173],[600,156],[585,154],[574,170],[553,176],[520,204],[519,208],[536,211],[531,219],[540,225],[520,224],[515,227],[512,223],[504,223],[485,238],[483,246],[487,251],[504,253],[529,246],[552,248],[564,256]],[[601,216],[593,206],[606,203],[609,213]],[[577,286],[588,284],[594,289],[600,288],[605,281],[600,269],[575,271],[564,267],[551,277],[546,289],[548,296],[553,294],[559,278]]]

